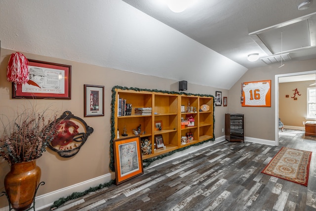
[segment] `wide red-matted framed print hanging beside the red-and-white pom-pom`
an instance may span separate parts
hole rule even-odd
[[[12,83],[12,98],[71,99],[71,65],[29,59],[29,81]]]

